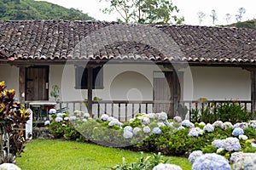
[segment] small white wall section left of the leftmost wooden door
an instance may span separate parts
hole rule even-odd
[[[0,82],[5,81],[7,89],[15,89],[15,98],[19,99],[19,68],[11,65],[0,65]]]

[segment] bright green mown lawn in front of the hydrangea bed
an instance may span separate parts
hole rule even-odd
[[[149,154],[147,154],[149,155]],[[16,159],[16,165],[22,170],[36,169],[108,169],[113,165],[121,164],[122,157],[126,162],[137,161],[140,153],[130,150],[119,150],[99,146],[61,140],[33,139],[26,144],[25,153]],[[188,159],[169,157],[173,164],[183,170],[191,169]]]

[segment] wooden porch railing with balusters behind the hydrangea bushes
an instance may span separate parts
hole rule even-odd
[[[174,115],[184,116],[190,114],[193,109],[204,109],[211,106],[216,107],[218,104],[235,102],[238,105],[242,105],[245,110],[252,111],[252,103],[250,100],[183,100],[180,101],[176,113]],[[76,110],[87,111],[87,101],[61,101],[55,104],[55,109],[60,112],[68,111],[70,115]],[[108,114],[114,116],[120,121],[129,121],[131,117],[137,115],[137,113],[150,113],[150,112],[169,112],[173,111],[173,102],[169,100],[153,101],[153,100],[100,100],[92,101],[92,117],[98,118],[102,114]],[[42,112],[42,111],[40,111]],[[47,117],[37,117],[37,120],[45,120]]]

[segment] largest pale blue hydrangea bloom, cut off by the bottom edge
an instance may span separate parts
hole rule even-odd
[[[195,159],[192,170],[231,170],[229,161],[216,153],[205,154]]]

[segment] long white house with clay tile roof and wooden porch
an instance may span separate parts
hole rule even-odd
[[[125,120],[200,98],[256,110],[256,30],[25,20],[0,33],[0,81],[22,102],[54,101],[58,85],[59,108]]]

